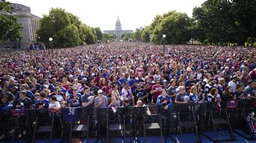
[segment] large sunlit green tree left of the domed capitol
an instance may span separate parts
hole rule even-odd
[[[37,35],[45,43],[52,37],[53,42],[61,47],[93,44],[96,41],[94,28],[83,24],[72,13],[59,8],[52,8],[49,15],[43,16]]]

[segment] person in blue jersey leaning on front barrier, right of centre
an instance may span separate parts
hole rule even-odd
[[[157,97],[157,106],[164,106],[164,110],[171,108],[173,102],[170,96],[167,96],[165,90],[161,91],[161,95]]]

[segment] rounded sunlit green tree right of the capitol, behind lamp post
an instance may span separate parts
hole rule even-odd
[[[163,16],[157,15],[150,26],[142,32],[142,40],[154,44],[163,44],[163,34],[166,35],[166,44],[186,44],[190,40],[191,19],[186,13],[170,11]],[[150,39],[152,34],[152,39]]]

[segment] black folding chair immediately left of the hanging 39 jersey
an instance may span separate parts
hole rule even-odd
[[[51,123],[51,124],[49,125],[48,123]],[[53,132],[53,123],[54,123],[54,116],[52,117],[50,116],[48,109],[37,110],[36,124],[34,127],[32,142],[35,142],[35,137],[37,133],[50,133],[50,142],[51,142],[52,132]]]

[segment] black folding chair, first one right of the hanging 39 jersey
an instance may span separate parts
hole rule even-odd
[[[109,110],[112,110],[111,108],[109,108]],[[125,115],[123,115],[123,119],[124,119],[124,123],[123,124],[110,124],[110,112],[107,112],[107,142],[109,142],[109,131],[123,131],[123,142],[125,142]],[[118,109],[117,111],[118,112]],[[118,116],[112,116],[112,118],[117,118],[117,120],[119,120],[120,115],[118,113]],[[118,121],[117,121],[118,123]]]

